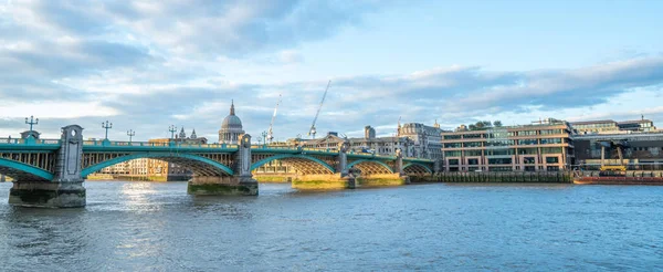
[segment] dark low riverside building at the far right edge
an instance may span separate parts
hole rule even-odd
[[[663,132],[575,135],[578,167],[598,170],[603,164],[630,170],[663,170]],[[620,161],[621,154],[621,161]]]

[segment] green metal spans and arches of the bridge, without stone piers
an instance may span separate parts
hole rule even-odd
[[[55,175],[61,139],[0,138],[0,174],[13,180],[51,181]],[[84,140],[81,178],[138,158],[154,158],[188,168],[194,176],[234,176],[239,145]],[[299,175],[336,174],[351,168],[364,175],[425,175],[434,171],[434,161],[402,158],[398,169],[396,156],[347,153],[345,169],[340,169],[339,150],[251,145],[251,170],[272,160],[291,165]]]

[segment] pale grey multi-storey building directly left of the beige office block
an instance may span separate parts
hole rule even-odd
[[[445,132],[440,128],[438,121],[433,126],[420,123],[408,123],[401,126],[399,122],[397,137],[412,140],[412,147],[409,153],[406,153],[408,157],[442,159],[441,134]]]

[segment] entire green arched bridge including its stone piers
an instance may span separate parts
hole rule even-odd
[[[409,175],[432,175],[436,161],[357,154],[349,143],[336,149],[252,145],[84,140],[78,125],[62,127],[60,139],[0,138],[0,174],[14,180],[10,203],[33,207],[85,206],[85,178],[105,167],[155,158],[189,169],[191,195],[257,195],[252,171],[272,160],[292,166],[297,189],[343,189],[359,185],[401,185]],[[439,161],[438,161],[439,163]]]

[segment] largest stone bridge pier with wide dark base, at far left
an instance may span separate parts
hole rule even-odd
[[[77,125],[63,127],[53,180],[15,180],[9,192],[9,203],[40,208],[85,207],[85,187],[81,177],[82,133],[83,128]]]

